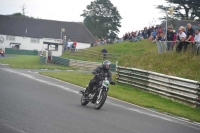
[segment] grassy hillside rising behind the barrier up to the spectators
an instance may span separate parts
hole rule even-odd
[[[149,40],[142,40],[140,42],[125,41],[91,47],[88,50],[100,52],[104,47],[108,50],[108,53],[121,55],[118,59],[120,66],[134,67],[200,81],[200,56],[195,56],[191,52],[166,52],[159,54],[156,44],[152,44]],[[83,56],[69,56],[69,53],[65,53],[63,56],[88,61],[100,62],[103,60]]]

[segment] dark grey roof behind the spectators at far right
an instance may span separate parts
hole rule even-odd
[[[168,20],[167,21],[167,25],[168,26],[172,25],[175,30],[178,30],[179,27],[181,27],[181,26],[186,27],[188,23],[191,23],[192,26],[198,26],[198,27],[200,27],[200,21],[191,21],[191,20]],[[163,22],[161,24],[161,26],[163,28],[165,28],[166,27],[166,22]]]

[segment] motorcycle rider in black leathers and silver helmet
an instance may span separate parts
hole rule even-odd
[[[88,95],[95,85],[98,85],[99,82],[104,78],[105,74],[107,74],[107,78],[111,85],[115,85],[115,82],[112,81],[112,73],[110,71],[111,62],[109,60],[105,60],[102,63],[102,66],[97,67],[92,71],[92,74],[95,75],[92,80],[90,80],[89,86],[86,88],[85,95]]]

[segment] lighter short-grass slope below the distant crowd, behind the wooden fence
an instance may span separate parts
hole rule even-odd
[[[148,45],[147,45],[148,44]],[[109,54],[119,54],[119,55],[126,55],[126,54],[132,54],[135,56],[142,55],[146,52],[152,52],[152,46],[155,48],[155,45],[150,45],[151,42],[148,40],[143,40],[139,42],[121,42],[121,43],[115,43],[115,44],[105,44],[105,45],[100,45],[96,47],[91,47],[88,48],[85,51],[86,56],[91,56],[91,57],[83,57],[83,56],[75,56],[73,53],[69,53],[68,51],[65,52],[62,57],[64,58],[71,58],[71,59],[77,59],[77,60],[84,60],[84,61],[94,61],[94,62],[102,62],[103,58],[101,59],[94,59],[94,56],[98,57],[99,53],[103,48],[106,48]],[[95,55],[96,52],[97,54]],[[76,53],[82,53],[83,51],[77,51]],[[92,54],[92,55],[91,55]],[[112,62],[115,63],[116,60],[110,59]]]

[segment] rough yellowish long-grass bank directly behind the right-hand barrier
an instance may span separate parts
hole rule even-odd
[[[119,65],[200,81],[200,57],[190,52],[125,55],[119,59]]]

